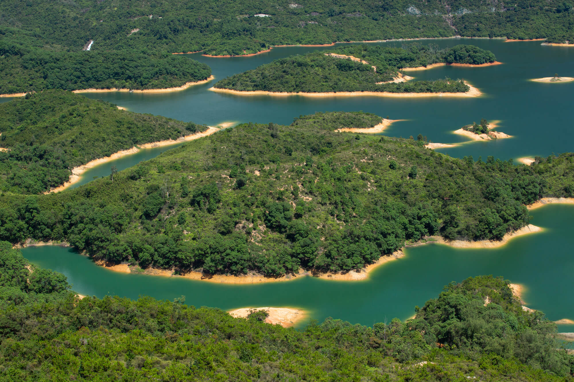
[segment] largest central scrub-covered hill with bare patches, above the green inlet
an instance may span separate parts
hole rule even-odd
[[[336,132],[373,114],[244,123],[110,177],[42,196],[2,195],[0,239],[66,240],[110,262],[254,271],[349,271],[427,235],[499,239],[525,204],[572,196],[571,154],[534,166],[456,159],[420,140]]]

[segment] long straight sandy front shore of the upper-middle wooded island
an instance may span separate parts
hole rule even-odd
[[[222,88],[215,88],[211,87],[209,90],[212,92],[219,92],[219,93],[230,93],[236,95],[267,95],[267,96],[304,96],[304,97],[353,97],[353,96],[375,96],[375,97],[398,97],[398,98],[405,98],[405,97],[478,97],[482,95],[482,92],[475,88],[474,86],[468,84],[465,81],[465,84],[468,85],[470,89],[467,92],[460,92],[460,93],[391,93],[391,92],[324,92],[324,93],[293,93],[293,92],[267,92],[263,90],[255,90],[255,91],[239,91],[239,90],[231,90],[231,89],[222,89]]]

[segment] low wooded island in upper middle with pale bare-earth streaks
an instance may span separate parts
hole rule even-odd
[[[466,92],[468,85],[449,79],[398,82],[402,68],[435,63],[484,64],[495,61],[489,50],[473,45],[439,49],[436,45],[410,44],[402,48],[380,45],[343,45],[290,56],[218,81],[215,88],[267,92]]]

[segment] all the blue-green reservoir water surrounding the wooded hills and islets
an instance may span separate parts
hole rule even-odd
[[[243,72],[290,54],[316,49],[275,48],[253,57],[214,59],[201,54],[187,56],[212,68],[215,80],[181,92],[162,94],[85,93],[128,108],[134,112],[164,115],[184,121],[210,125],[222,122],[276,122],[288,124],[294,117],[316,111],[367,111],[406,119],[393,124],[385,135],[416,136],[421,133],[433,142],[454,143],[464,137],[453,130],[481,118],[501,120],[498,131],[514,138],[490,142],[465,143],[441,150],[454,157],[488,155],[501,159],[574,151],[574,82],[562,84],[534,83],[530,79],[560,76],[574,77],[574,48],[541,46],[540,42],[503,42],[502,40],[459,39],[424,40],[422,44],[441,47],[474,44],[492,50],[503,65],[483,68],[438,67],[412,72],[417,79],[465,79],[478,87],[479,98],[304,98],[292,96],[236,96],[214,93],[208,89],[215,81]],[[410,42],[408,42],[410,43]],[[402,42],[383,45],[401,46]],[[0,102],[7,100],[3,99]],[[173,147],[173,146],[172,146]],[[141,150],[139,153],[108,162],[87,171],[77,185],[95,176],[133,166],[170,149]],[[414,314],[414,306],[436,297],[452,280],[481,274],[503,275],[526,286],[526,305],[543,310],[550,319],[574,319],[574,257],[571,232],[574,206],[550,205],[532,212],[533,224],[544,232],[522,236],[505,247],[495,249],[455,249],[445,245],[408,248],[403,259],[375,270],[369,279],[359,282],[333,282],[300,278],[290,282],[253,285],[214,284],[183,278],[164,278],[119,274],[98,267],[90,259],[67,248],[30,247],[26,258],[38,266],[63,272],[81,294],[118,294],[130,298],[151,295],[173,299],[186,296],[186,303],[232,309],[244,306],[292,306],[309,311],[311,318],[328,316],[352,323],[373,322]],[[301,325],[305,325],[302,322]],[[560,325],[561,332],[574,332],[574,325]]]

